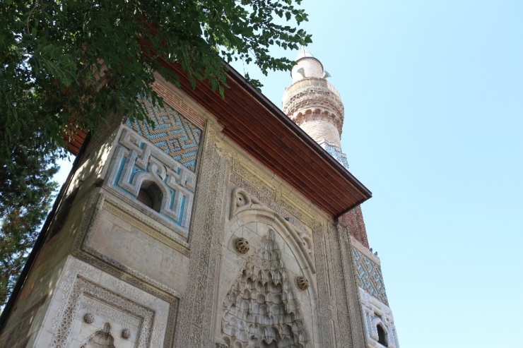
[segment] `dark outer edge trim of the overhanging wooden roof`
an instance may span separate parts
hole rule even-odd
[[[230,76],[230,78],[232,78],[233,80],[235,80],[235,82],[237,82],[243,88],[245,88],[245,90],[247,90],[249,94],[252,95],[252,97],[254,97],[266,109],[269,109],[269,111],[272,112],[272,114],[274,114],[276,117],[278,117],[278,119],[283,124],[285,124],[288,128],[292,129],[296,133],[296,135],[300,137],[301,140],[303,140],[307,145],[309,145],[310,148],[315,150],[315,152],[317,152],[318,155],[320,155],[324,158],[324,160],[329,162],[329,164],[331,164],[331,166],[334,167],[336,171],[341,173],[346,179],[348,179],[348,181],[351,182],[351,184],[353,184],[363,193],[363,195],[366,198],[364,200],[360,200],[360,202],[351,206],[346,211],[351,210],[356,205],[360,205],[361,203],[365,202],[365,200],[368,200],[372,197],[372,192],[370,192],[370,190],[366,188],[365,185],[363,185],[358,179],[356,179],[355,176],[353,176],[353,174],[351,174],[351,172],[348,171],[348,169],[343,167],[343,165],[341,165],[340,162],[338,162],[336,159],[334,159],[334,157],[329,155],[329,152],[327,152],[327,150],[322,148],[314,139],[312,139],[307,133],[305,133],[305,131],[303,131],[302,128],[300,128],[300,126],[295,124],[286,114],[283,113],[283,111],[281,111],[279,107],[276,107],[276,105],[274,105],[274,103],[271,102],[265,95],[258,92],[256,88],[252,87],[252,85],[250,85],[250,83],[248,83],[247,80],[245,80],[245,78],[235,70],[235,68],[233,68],[229,64],[225,65],[228,68],[228,75]],[[336,217],[339,217],[344,213],[345,212],[342,212]]]

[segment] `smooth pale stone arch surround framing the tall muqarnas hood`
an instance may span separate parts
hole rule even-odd
[[[274,210],[265,207],[259,201],[236,188],[232,192],[229,219],[225,225],[223,253],[221,255],[220,285],[218,289],[218,308],[216,317],[217,342],[221,337],[221,320],[223,299],[231,286],[235,284],[243,265],[259,253],[263,239],[273,232],[276,242],[281,248],[281,260],[288,271],[288,277],[293,286],[293,296],[300,303],[300,314],[304,318],[305,327],[310,335],[310,344],[319,342],[319,313],[317,313],[317,291],[315,281],[315,264],[312,253],[312,236],[305,231],[299,231]],[[235,250],[235,240],[245,238],[249,242],[249,251],[240,254]],[[295,280],[303,276],[309,281],[310,287],[302,291],[296,286]],[[242,292],[247,296],[247,292]],[[258,295],[257,295],[258,296]],[[248,297],[248,296],[247,296]],[[250,301],[253,302],[254,301]],[[260,300],[260,302],[262,302]],[[268,308],[271,310],[271,308]],[[253,309],[254,310],[254,309]],[[264,308],[256,308],[264,311]],[[231,347],[234,342],[230,342]]]

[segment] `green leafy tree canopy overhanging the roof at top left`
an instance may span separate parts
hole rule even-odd
[[[13,165],[20,138],[49,153],[69,125],[93,131],[112,112],[141,119],[139,96],[161,103],[154,71],[178,85],[158,56],[180,63],[193,87],[208,80],[222,95],[223,59],[265,74],[290,68],[269,48],[311,42],[295,28],[307,20],[300,1],[1,1],[0,163]]]

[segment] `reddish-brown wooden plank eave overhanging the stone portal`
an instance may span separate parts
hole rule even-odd
[[[180,64],[165,60],[162,64],[177,73],[186,95],[216,116],[226,137],[332,217],[372,197],[368,188],[232,67],[228,66],[227,76],[230,88],[222,98],[205,82],[193,89]],[[85,137],[78,131],[68,142],[69,151],[76,155]]]

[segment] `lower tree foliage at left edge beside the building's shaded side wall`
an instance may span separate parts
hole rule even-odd
[[[10,151],[13,166],[0,165],[0,308],[6,303],[40,232],[57,183],[54,157],[25,140]]]

